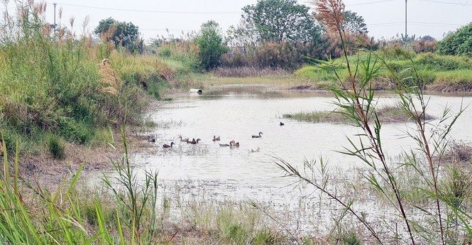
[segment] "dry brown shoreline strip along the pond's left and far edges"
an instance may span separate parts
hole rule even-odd
[[[228,77],[226,77],[228,79]],[[231,77],[229,77],[231,78]],[[241,77],[236,77],[236,82],[240,81]],[[242,88],[242,87],[254,87],[257,90],[263,92],[282,92],[282,91],[292,91],[292,92],[326,92],[329,93],[326,89],[322,89],[319,85],[306,85],[303,82],[300,82],[299,85],[270,85],[265,82],[260,83],[224,83],[219,85],[206,85],[205,82],[202,84],[203,94],[207,92],[214,92],[221,89],[228,88]],[[376,89],[376,92],[389,92],[388,89]],[[430,95],[440,95],[440,96],[472,96],[471,92],[445,92],[437,89],[426,89],[425,94]],[[177,97],[189,94],[187,89],[170,89],[168,92],[165,92],[163,97],[175,99]],[[148,98],[148,108],[143,112],[144,115],[152,114],[153,111],[158,110],[165,101]],[[127,143],[128,148],[133,151],[143,151],[148,148],[152,148],[152,143],[146,141],[146,130],[148,126],[127,126]],[[116,139],[121,139],[121,136],[114,132]],[[120,140],[121,141],[121,140]],[[117,142],[121,147],[122,143]],[[66,143],[65,145],[65,158],[62,160],[55,160],[48,156],[48,153],[42,152],[34,156],[20,156],[20,168],[21,173],[26,175],[28,178],[34,180],[39,180],[39,183],[55,186],[60,184],[60,182],[70,174],[71,172],[77,170],[79,166],[84,163],[84,172],[97,171],[97,170],[112,170],[113,166],[111,165],[111,160],[116,159],[120,156],[119,151],[112,149],[110,146],[103,145],[98,146],[85,146],[77,143]],[[9,159],[12,159],[13,154],[9,155]]]

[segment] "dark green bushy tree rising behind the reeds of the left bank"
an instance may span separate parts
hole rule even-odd
[[[106,42],[113,41],[115,47],[126,47],[133,51],[143,45],[139,38],[139,28],[129,22],[119,22],[113,18],[106,18],[99,22],[94,33],[99,35]]]

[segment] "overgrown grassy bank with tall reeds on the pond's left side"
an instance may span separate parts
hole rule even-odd
[[[162,59],[94,45],[91,37],[54,33],[43,25],[44,9],[30,8],[5,16],[10,28],[0,33],[0,126],[10,152],[16,141],[22,155],[54,159],[76,146],[100,146],[108,126],[143,124],[149,98],[165,99],[180,72]]]

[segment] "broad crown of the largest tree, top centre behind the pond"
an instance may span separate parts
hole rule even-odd
[[[309,7],[295,0],[258,0],[243,7],[243,23],[258,41],[313,41],[321,39]]]

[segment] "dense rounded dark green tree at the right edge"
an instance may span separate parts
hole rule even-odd
[[[441,55],[466,55],[472,57],[472,23],[450,33],[438,42],[437,52]]]

